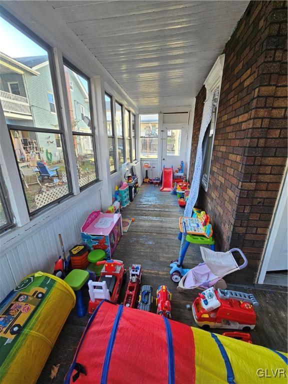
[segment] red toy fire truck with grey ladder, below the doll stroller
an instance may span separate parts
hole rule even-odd
[[[252,294],[214,287],[199,293],[192,311],[195,322],[206,328],[253,329],[259,305]]]

